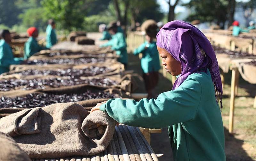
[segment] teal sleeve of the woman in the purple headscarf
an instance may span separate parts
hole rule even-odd
[[[126,125],[159,129],[195,118],[200,100],[201,84],[190,77],[179,88],[159,94],[157,99],[111,99],[100,110]]]

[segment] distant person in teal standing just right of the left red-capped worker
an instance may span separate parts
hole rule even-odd
[[[46,47],[51,48],[54,44],[57,43],[57,35],[55,31],[55,22],[53,19],[48,21],[48,26],[46,28]]]

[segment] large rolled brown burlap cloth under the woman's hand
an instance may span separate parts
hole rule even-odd
[[[115,125],[106,113],[89,114],[77,103],[25,109],[0,119],[0,131],[12,136],[30,158],[98,154],[110,143]]]

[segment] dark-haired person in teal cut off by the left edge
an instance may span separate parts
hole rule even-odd
[[[0,74],[9,72],[10,65],[23,63],[23,58],[14,58],[12,53],[11,44],[11,33],[9,30],[1,31],[0,40]]]

